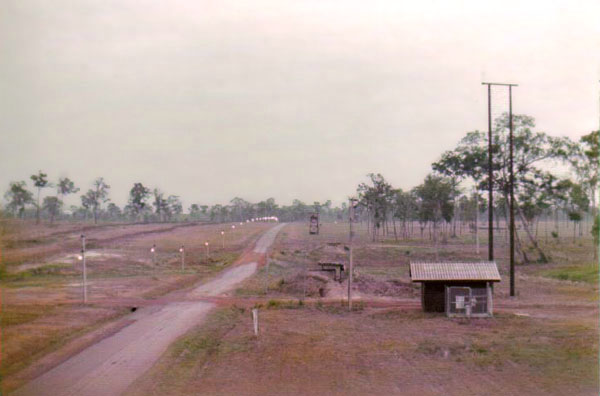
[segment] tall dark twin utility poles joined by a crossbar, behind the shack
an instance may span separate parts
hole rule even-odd
[[[509,193],[510,193],[510,295],[515,295],[515,212],[514,212],[514,172],[513,172],[513,120],[512,120],[512,87],[517,84],[481,83],[488,86],[488,189],[489,189],[489,260],[494,260],[494,230],[493,230],[493,169],[492,169],[492,85],[508,87],[508,125],[510,131],[510,159],[509,159]]]

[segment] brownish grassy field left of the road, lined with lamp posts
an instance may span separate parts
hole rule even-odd
[[[132,306],[214,276],[269,226],[140,224],[86,226],[89,303],[82,304],[82,226],[2,224],[3,390],[13,389],[71,341],[130,312]],[[221,230],[226,230],[223,248]],[[204,243],[209,242],[207,258]],[[155,244],[154,258],[150,247]],[[185,245],[185,270],[178,249]],[[61,357],[58,356],[57,359]],[[41,362],[32,365],[32,363]]]

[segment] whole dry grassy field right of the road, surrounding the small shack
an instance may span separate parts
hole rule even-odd
[[[507,247],[498,238],[496,314],[467,320],[415,308],[419,289],[408,263],[484,258],[486,247],[477,255],[472,235],[436,249],[419,239],[372,242],[360,231],[353,312],[334,293],[343,284],[327,282],[320,298],[307,271],[317,260],[345,259],[332,244],[347,240],[347,224],[324,224],[318,236],[290,224],[268,276],[263,267],[236,293],[239,301],[262,301],[259,337],[248,304],[221,308],[129,394],[598,394],[598,266],[589,238],[541,238],[552,260],[517,266],[516,298],[508,295]]]

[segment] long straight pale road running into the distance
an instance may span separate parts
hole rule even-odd
[[[265,254],[283,227],[267,231],[254,247]],[[193,289],[183,301],[140,309],[118,333],[73,356],[13,393],[15,396],[119,395],[160,357],[177,337],[200,323],[214,304],[202,297],[217,296],[251,276],[257,263],[243,263],[219,278]]]

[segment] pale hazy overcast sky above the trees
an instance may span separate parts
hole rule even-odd
[[[38,169],[103,176],[119,205],[134,182],[186,208],[339,203],[369,172],[411,188],[487,129],[482,79],[519,83],[538,130],[597,129],[599,18],[597,0],[2,0],[0,191]]]

